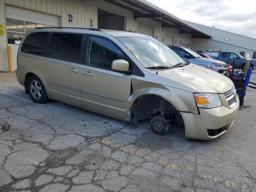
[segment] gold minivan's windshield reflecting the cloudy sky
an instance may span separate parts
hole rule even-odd
[[[172,67],[186,63],[170,48],[149,36],[116,37],[140,61],[145,68]],[[159,46],[160,45],[160,46]],[[159,50],[159,62],[158,62]]]

